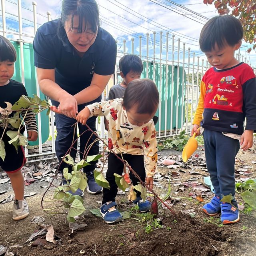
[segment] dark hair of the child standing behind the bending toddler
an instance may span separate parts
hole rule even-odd
[[[119,70],[126,76],[130,71],[141,74],[143,64],[141,59],[133,54],[124,55],[119,60]]]

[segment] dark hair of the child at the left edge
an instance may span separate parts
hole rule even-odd
[[[17,58],[16,51],[12,43],[3,36],[0,36],[0,62],[9,60],[15,62]]]

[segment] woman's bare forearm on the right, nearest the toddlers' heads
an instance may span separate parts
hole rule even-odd
[[[102,76],[94,73],[90,86],[74,95],[78,105],[98,98],[107,86],[111,76],[112,75]]]

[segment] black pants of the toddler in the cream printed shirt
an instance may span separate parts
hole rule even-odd
[[[131,168],[140,176],[140,179],[145,182],[146,172],[144,167],[144,156],[134,156],[130,154],[123,154],[124,160],[128,162]],[[102,204],[106,202],[114,202],[117,194],[117,185],[115,181],[114,173],[122,175],[124,170],[124,164],[112,153],[108,156],[108,170],[106,174],[106,180],[109,182],[110,190],[107,188],[103,188],[103,200]],[[134,174],[130,171],[130,179],[132,180],[132,184],[135,186],[138,184],[138,179],[134,176]],[[137,192],[137,197],[140,196],[140,192]]]

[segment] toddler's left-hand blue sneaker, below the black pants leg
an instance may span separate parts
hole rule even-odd
[[[116,202],[102,204],[102,206],[100,206],[100,213],[106,223],[110,224],[123,221],[122,215],[116,210]]]

